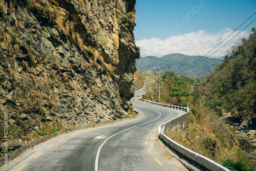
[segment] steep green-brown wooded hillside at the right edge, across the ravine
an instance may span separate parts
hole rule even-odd
[[[241,39],[232,55],[208,77],[205,93],[208,105],[215,111],[228,114],[229,120],[241,127],[256,129],[256,32]]]

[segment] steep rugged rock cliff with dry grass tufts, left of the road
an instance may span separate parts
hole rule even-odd
[[[136,0],[0,0],[0,110],[25,134],[125,116]]]

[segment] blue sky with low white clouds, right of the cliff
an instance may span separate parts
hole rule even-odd
[[[199,42],[203,42],[203,44],[209,42],[211,44],[209,48],[214,47],[214,45],[218,44],[219,40],[224,39],[226,35],[240,26],[254,12],[256,12],[255,0],[137,0],[137,26],[135,27],[136,45],[141,47],[142,54],[145,52],[145,55],[150,55],[151,53],[157,55],[160,49],[159,47],[155,47],[156,45],[165,45],[165,40],[169,39],[168,42],[170,42],[177,38],[182,41],[183,49],[180,49],[180,51],[184,51],[186,48],[185,45],[189,45],[188,42],[185,42],[184,37],[190,40],[191,37],[189,34],[195,33],[192,37],[194,40],[195,37],[198,39],[196,44],[200,46]],[[255,18],[256,14],[239,30],[242,30]],[[236,38],[238,39],[239,36],[244,37],[248,35],[248,31],[250,31],[252,27],[256,27],[256,21]],[[204,32],[202,34],[202,32],[199,31]],[[207,37],[207,35],[209,37]],[[203,36],[202,40],[200,40],[200,36]],[[205,36],[207,37],[207,41],[204,40]],[[218,36],[219,38],[217,38]],[[214,39],[212,39],[213,37]],[[232,36],[230,36],[230,38],[231,37]],[[237,39],[234,40],[237,41]],[[146,45],[148,42],[151,42],[151,46]],[[235,41],[231,41],[231,43],[233,45]],[[227,45],[226,49],[224,47],[225,51],[230,47],[231,45]],[[153,52],[154,48],[155,52]],[[168,48],[167,45],[166,48]],[[193,48],[189,48],[190,54],[187,53],[189,55],[203,55],[204,53],[197,51],[193,54]],[[175,49],[173,47],[173,49],[175,53],[179,51],[179,48]],[[167,50],[165,53],[169,52],[172,53],[172,51]],[[222,53],[224,53],[224,50]],[[161,55],[164,54],[159,54],[159,56]],[[216,56],[220,55],[221,54],[218,54]]]

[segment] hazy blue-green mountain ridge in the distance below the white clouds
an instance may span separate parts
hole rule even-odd
[[[153,68],[156,67],[156,68],[159,68],[161,72],[163,69],[163,72],[170,70],[170,71],[176,71],[176,73],[179,73],[185,70],[186,68],[188,68],[190,65],[193,65],[193,63],[195,63],[202,57],[203,56],[189,56],[189,55],[184,55],[180,53],[168,54],[162,57],[145,56],[145,57],[140,57],[139,59],[136,59],[135,66],[139,71],[141,70],[140,67],[144,67],[145,71],[154,71]],[[205,57],[203,57],[202,60],[203,59],[205,59]],[[189,78],[195,77],[195,75],[197,76],[197,75],[203,74],[209,71],[211,68],[214,68],[216,65],[219,65],[221,61],[222,60],[218,58],[206,58],[204,61],[200,62],[197,66],[181,73],[181,75],[187,76]],[[167,64],[173,64],[173,65],[171,65],[169,68]],[[202,78],[203,75],[200,75],[200,77]]]

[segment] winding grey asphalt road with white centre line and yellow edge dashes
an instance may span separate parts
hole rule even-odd
[[[138,119],[61,135],[0,170],[187,170],[156,141],[158,126],[183,111],[132,99]]]

